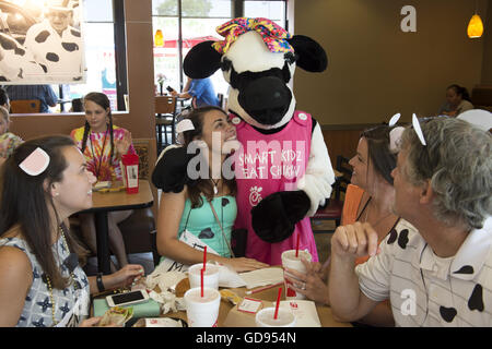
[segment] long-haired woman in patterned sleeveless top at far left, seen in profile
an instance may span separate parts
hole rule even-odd
[[[92,207],[94,176],[68,136],[21,144],[0,176],[0,327],[92,326],[89,294],[130,285],[140,265],[87,277],[86,251],[63,225]]]

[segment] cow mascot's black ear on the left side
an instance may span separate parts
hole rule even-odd
[[[203,41],[195,45],[185,57],[183,69],[186,76],[206,79],[221,68],[222,55],[213,47],[214,41]]]

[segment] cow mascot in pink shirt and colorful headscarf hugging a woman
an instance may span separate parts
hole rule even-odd
[[[267,19],[235,19],[218,33],[224,40],[196,45],[184,70],[191,79],[204,79],[222,69],[230,84],[226,109],[241,143],[233,155],[234,233],[247,234],[247,257],[281,265],[282,252],[295,249],[298,241],[300,250],[309,251],[317,262],[309,216],[330,196],[335,174],[319,124],[295,109],[289,84],[295,67],[323,72],[325,50]],[[183,147],[166,151],[153,182],[165,192],[180,192],[192,182],[186,176],[192,154]]]

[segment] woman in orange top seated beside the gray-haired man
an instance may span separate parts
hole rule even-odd
[[[379,124],[363,131],[356,153],[349,161],[352,178],[343,202],[341,226],[368,222],[377,231],[379,242],[400,219],[391,209],[395,196],[391,171],[396,167],[401,130],[403,128],[394,124]],[[355,265],[366,262],[368,257],[368,255],[359,257]],[[289,270],[297,277],[297,279],[290,278],[295,291],[329,304],[327,286],[329,261],[330,258],[323,267],[318,263],[308,264],[306,274]],[[387,302],[379,303],[360,322],[373,326],[394,325]]]

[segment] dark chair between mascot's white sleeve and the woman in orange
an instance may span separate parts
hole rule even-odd
[[[347,191],[347,185],[349,185],[350,183],[350,178],[352,177],[352,167],[349,165],[348,158],[338,155],[335,169],[339,172],[339,176],[337,176],[335,179],[331,197],[325,207],[319,207],[316,214],[311,217],[311,224],[314,232],[332,232],[335,231],[335,229],[337,229],[338,226],[340,226],[341,215],[343,210],[342,193]],[[319,222],[320,220],[333,220],[335,229],[316,229],[316,222]]]

